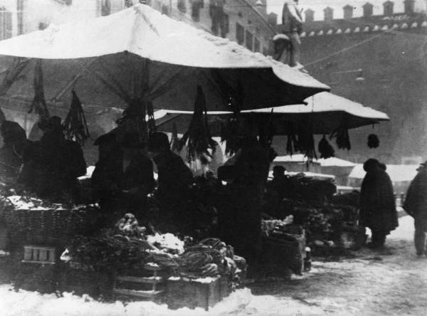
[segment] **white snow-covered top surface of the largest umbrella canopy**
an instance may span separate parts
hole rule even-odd
[[[329,90],[310,75],[253,53],[237,43],[175,21],[139,4],[96,19],[51,25],[0,41],[0,54],[43,59],[105,56],[121,52],[162,63],[201,68],[273,68],[295,85]]]

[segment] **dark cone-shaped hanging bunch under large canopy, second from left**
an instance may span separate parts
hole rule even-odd
[[[85,112],[83,111],[80,99],[74,90],[71,93],[73,94],[73,98],[71,99],[70,110],[63,122],[65,137],[83,146],[90,137],[88,123],[86,122]]]

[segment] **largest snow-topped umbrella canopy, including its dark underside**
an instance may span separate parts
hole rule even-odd
[[[32,60],[4,95],[9,100],[33,100],[36,58],[43,60],[48,104],[68,104],[74,89],[84,105],[126,107],[144,100],[157,109],[193,110],[201,85],[209,110],[230,110],[230,98],[254,109],[329,90],[310,75],[143,4],[0,41],[2,70],[16,57]]]

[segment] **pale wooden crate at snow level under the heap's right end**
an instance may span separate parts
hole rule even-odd
[[[194,309],[196,307],[209,310],[226,296],[225,288],[221,294],[221,278],[214,279],[211,283],[197,282],[181,278],[167,280],[166,302],[170,309],[182,307]],[[227,294],[228,295],[228,294]]]

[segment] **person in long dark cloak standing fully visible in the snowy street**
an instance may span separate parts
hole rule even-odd
[[[381,248],[390,231],[399,226],[393,185],[378,160],[368,159],[363,167],[367,174],[360,192],[359,225],[371,229],[369,246]]]

